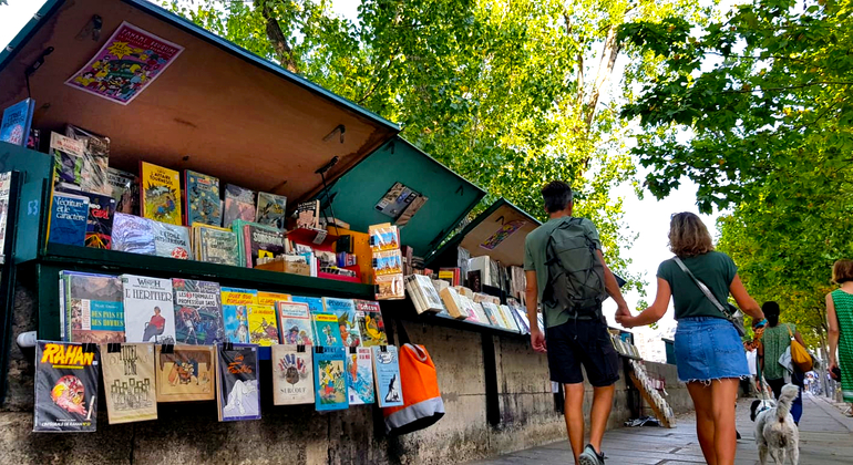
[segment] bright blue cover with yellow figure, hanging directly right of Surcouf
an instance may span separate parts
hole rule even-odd
[[[349,409],[346,349],[314,349],[315,407],[318,412]]]

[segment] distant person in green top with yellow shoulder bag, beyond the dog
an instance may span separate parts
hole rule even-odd
[[[782,394],[782,386],[787,384],[785,375],[789,374],[788,369],[779,363],[779,358],[791,347],[791,337],[797,339],[797,342],[803,347],[805,347],[805,343],[803,343],[800,332],[797,331],[795,324],[779,324],[779,314],[781,313],[779,303],[772,300],[764,302],[761,306],[761,310],[767,318],[768,328],[764,329],[764,333],[761,335],[758,360],[761,363],[761,373],[764,374],[764,380],[770,385],[770,389],[773,390],[773,396],[779,399],[779,395]],[[800,386],[800,394],[794,400],[793,405],[791,405],[791,415],[793,415],[794,423],[798,425],[803,416],[803,376],[804,374],[797,366],[790,372],[791,383]]]

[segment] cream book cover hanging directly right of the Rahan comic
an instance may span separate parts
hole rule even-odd
[[[154,344],[101,345],[101,371],[110,424],[157,420]]]

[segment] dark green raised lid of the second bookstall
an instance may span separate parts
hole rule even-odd
[[[349,223],[353,230],[393,224],[393,218],[376,207],[395,183],[426,197],[426,203],[400,229],[401,244],[411,246],[420,257],[434,250],[485,195],[483,189],[398,136],[329,186],[335,216]],[[332,214],[328,208],[326,213]]]

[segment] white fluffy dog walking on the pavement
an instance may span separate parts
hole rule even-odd
[[[756,443],[761,465],[767,464],[768,453],[777,465],[783,465],[789,456],[793,465],[799,465],[800,431],[791,415],[791,403],[799,394],[800,388],[785,384],[779,403],[756,417]]]

